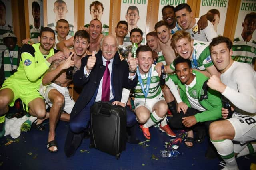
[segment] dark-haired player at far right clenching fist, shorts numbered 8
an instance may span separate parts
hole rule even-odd
[[[245,63],[233,61],[232,42],[219,36],[210,43],[211,57],[220,78],[211,76],[207,85],[219,91],[234,108],[231,118],[222,108],[224,120],[211,123],[209,134],[218,154],[226,162],[223,170],[238,170],[237,157],[256,150],[256,72]],[[232,109],[233,110],[233,109]],[[246,147],[247,146],[247,147]]]

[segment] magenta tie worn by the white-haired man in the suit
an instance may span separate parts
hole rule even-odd
[[[110,93],[110,73],[108,69],[108,64],[110,61],[106,61],[106,70],[103,74],[103,82],[102,82],[102,94],[101,101],[109,101],[109,93]]]

